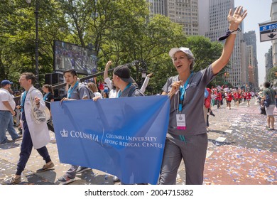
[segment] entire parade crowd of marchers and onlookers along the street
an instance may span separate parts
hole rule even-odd
[[[207,113],[212,115],[212,105],[216,104],[217,108],[220,108],[223,99],[227,101],[229,109],[231,109],[232,100],[234,100],[236,106],[239,106],[239,102],[242,99],[246,99],[246,101],[251,99],[249,92],[207,89],[207,85],[229,62],[239,24],[246,15],[246,10],[242,11],[241,6],[237,7],[234,12],[232,10],[229,11],[227,17],[229,30],[225,36],[221,37],[221,39],[226,39],[222,55],[204,70],[193,72],[195,57],[189,48],[172,48],[169,51],[169,56],[178,75],[169,77],[162,89],[162,95],[167,95],[170,99],[170,117],[158,184],[176,183],[176,176],[182,159],[185,163],[186,184],[202,184],[208,142]],[[153,75],[152,73],[147,75],[146,82],[139,88],[131,77],[129,68],[124,65],[114,68],[112,80],[110,80],[108,76],[110,65],[112,65],[112,61],[107,63],[104,70],[104,82],[100,82],[99,85],[96,85],[95,82],[89,82],[87,85],[79,82],[74,69],[64,71],[63,75],[68,87],[67,95],[61,99],[61,103],[66,100],[103,100],[102,98],[108,97],[143,96],[148,80]],[[36,149],[45,161],[45,164],[37,172],[48,171],[54,167],[46,147],[50,141],[48,132],[50,125],[48,125],[48,121],[40,121],[40,124],[38,124],[37,119],[32,117],[33,109],[38,109],[42,112],[47,108],[50,109],[50,103],[53,102],[53,92],[50,85],[44,85],[43,92],[45,95],[43,96],[38,89],[33,87],[34,81],[35,75],[30,72],[24,72],[19,79],[21,87],[25,90],[21,95],[20,104],[18,104],[18,109],[21,109],[23,140],[16,173],[11,178],[6,179],[6,184],[17,184],[21,181],[21,173],[30,157],[32,148]],[[11,82],[4,80],[3,85],[8,85],[6,88],[9,89]],[[4,87],[3,89],[6,88]],[[207,92],[205,92],[206,90]],[[270,95],[270,93],[271,90],[269,89],[265,91],[266,95]],[[271,98],[273,94],[276,93],[272,92]],[[207,98],[207,104],[205,98]],[[3,101],[2,98],[1,101]],[[11,105],[7,105],[6,101]],[[4,101],[5,103],[3,102],[5,109],[0,110],[1,122],[2,118],[5,118],[6,121],[5,126],[2,126],[2,124],[0,126],[1,143],[6,143],[7,139],[3,135],[6,134],[6,129],[9,131],[11,117],[15,115],[15,103],[12,102],[9,96],[6,101]],[[209,101],[210,105],[208,105]],[[272,108],[272,105],[270,104],[269,107]],[[267,113],[269,113],[269,108]],[[270,114],[268,114],[269,116]],[[272,117],[269,117],[268,128],[273,128],[273,122]],[[20,137],[15,131],[9,131],[9,133],[13,140]],[[62,184],[71,183],[75,181],[77,173],[82,173],[87,169],[91,168],[71,165],[65,175],[58,178],[58,181]]]

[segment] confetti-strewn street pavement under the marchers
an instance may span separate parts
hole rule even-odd
[[[266,116],[260,114],[256,99],[251,99],[232,109],[223,105],[212,107],[215,117],[210,116],[207,159],[204,171],[205,185],[276,185],[277,139],[276,131],[266,130]],[[277,109],[274,112],[277,117]],[[277,122],[277,121],[276,121]],[[277,129],[277,126],[276,126]],[[9,139],[9,134],[7,133]],[[23,171],[20,184],[55,185],[57,179],[70,168],[60,163],[55,134],[50,131],[51,142],[47,145],[55,169],[36,173],[45,163],[36,150]],[[21,140],[0,144],[0,183],[16,172]],[[197,157],[195,157],[197,158]],[[109,173],[92,169],[77,175],[71,185],[113,185]],[[185,184],[185,166],[181,163],[177,184]]]

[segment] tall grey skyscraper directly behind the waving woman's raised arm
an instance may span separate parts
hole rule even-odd
[[[200,33],[205,32],[205,37],[210,38],[211,41],[217,41],[217,38],[224,35],[229,28],[227,16],[229,14],[229,9],[232,9],[232,11],[235,9],[234,0],[209,0],[208,8],[207,0],[199,0],[198,3],[200,11],[209,9],[209,16],[202,16],[201,14]],[[206,8],[203,6],[206,6]],[[209,18],[209,27],[208,30],[205,31],[202,30],[201,20],[204,19],[204,21],[206,21],[205,23],[207,23],[207,18]],[[243,36],[243,23],[241,23],[239,28],[241,32],[237,32],[229,68],[225,68],[229,73],[226,82],[231,83],[234,87],[244,87],[247,79],[244,75],[248,74],[248,72],[245,71],[248,70],[248,67],[246,67],[246,44]]]

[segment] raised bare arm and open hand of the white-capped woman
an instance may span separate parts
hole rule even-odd
[[[229,30],[235,31],[239,28],[239,24],[241,21],[244,20],[244,18],[247,15],[247,10],[242,11],[242,6],[237,7],[237,9],[234,11],[234,14],[232,13],[232,9],[229,11],[228,15],[228,21],[229,21]],[[229,62],[229,59],[232,55],[232,51],[234,48],[234,41],[236,39],[235,34],[230,34],[225,42],[224,48],[222,50],[222,55],[218,60],[215,60],[214,63],[212,63],[212,72],[214,75],[216,75],[222,68],[224,68],[225,65]]]

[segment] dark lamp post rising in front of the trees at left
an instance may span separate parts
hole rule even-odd
[[[31,4],[31,0],[26,0],[27,4]],[[36,88],[39,87],[38,82],[38,0],[36,0],[36,10],[35,10],[35,16],[36,16],[36,48],[35,48],[35,59],[36,59]]]

